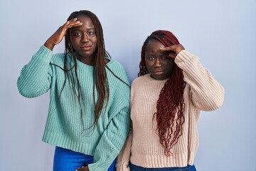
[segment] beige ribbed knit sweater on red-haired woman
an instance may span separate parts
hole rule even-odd
[[[203,68],[198,57],[188,51],[178,53],[175,63],[183,69],[186,81],[183,98],[186,105],[183,134],[171,150],[173,155],[164,155],[164,147],[156,134],[156,120],[152,120],[156,112],[156,101],[166,80],[157,81],[150,74],[146,74],[132,83],[132,129],[117,158],[117,171],[129,170],[129,162],[142,167],[193,165],[198,150],[197,125],[200,111],[220,108],[223,104],[224,88]]]

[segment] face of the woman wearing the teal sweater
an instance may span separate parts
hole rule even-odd
[[[80,61],[90,64],[97,48],[97,36],[92,20],[87,16],[78,16],[82,26],[71,28],[71,42]]]

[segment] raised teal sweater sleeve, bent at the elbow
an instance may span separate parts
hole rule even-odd
[[[31,61],[21,70],[17,86],[21,95],[27,98],[35,98],[46,93],[50,88],[51,69],[50,60],[53,56],[45,46],[33,55]]]

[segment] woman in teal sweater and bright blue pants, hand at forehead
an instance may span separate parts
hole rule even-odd
[[[53,54],[64,37],[65,53]],[[70,14],[23,67],[17,85],[27,98],[50,89],[43,141],[56,146],[54,171],[114,170],[129,131],[130,87],[124,67],[105,51],[95,14]]]

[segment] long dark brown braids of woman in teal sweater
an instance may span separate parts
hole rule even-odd
[[[67,21],[70,21],[71,19],[75,19],[78,16],[87,16],[92,20],[93,25],[95,26],[95,34],[97,36],[97,48],[95,51],[95,58],[93,59],[93,78],[94,78],[94,87],[93,87],[93,99],[94,99],[94,110],[95,110],[95,120],[93,125],[90,128],[95,128],[95,125],[97,125],[97,121],[100,118],[100,113],[102,111],[103,106],[105,103],[107,103],[109,99],[109,84],[107,82],[107,72],[105,67],[107,66],[105,63],[105,57],[111,58],[109,53],[105,50],[105,42],[103,38],[103,31],[102,26],[100,24],[99,19],[97,19],[97,16],[93,14],[91,11],[87,10],[81,10],[81,11],[75,11],[68,17]],[[71,41],[71,29],[68,28],[67,33],[65,35],[65,52],[64,52],[64,69],[65,71],[65,83],[71,83],[71,87],[73,89],[73,93],[75,95],[75,98],[77,98],[78,103],[80,105],[80,113],[82,118],[82,103],[84,103],[84,100],[82,98],[82,91],[80,87],[80,81],[78,80],[78,73],[77,73],[77,60],[75,56],[75,49],[73,48],[73,44]],[[75,76],[71,69],[68,69],[68,63],[67,63],[67,56],[68,53],[72,54],[72,58],[74,61],[74,66],[70,66],[71,69],[75,68]],[[65,86],[65,83],[63,84],[63,88]],[[77,83],[78,86],[78,93],[75,91],[75,83]],[[95,88],[97,90],[97,102],[95,101]],[[63,89],[61,90],[62,93]],[[61,95],[60,93],[60,95]],[[82,120],[83,123],[83,120]],[[84,125],[84,124],[82,124]]]

